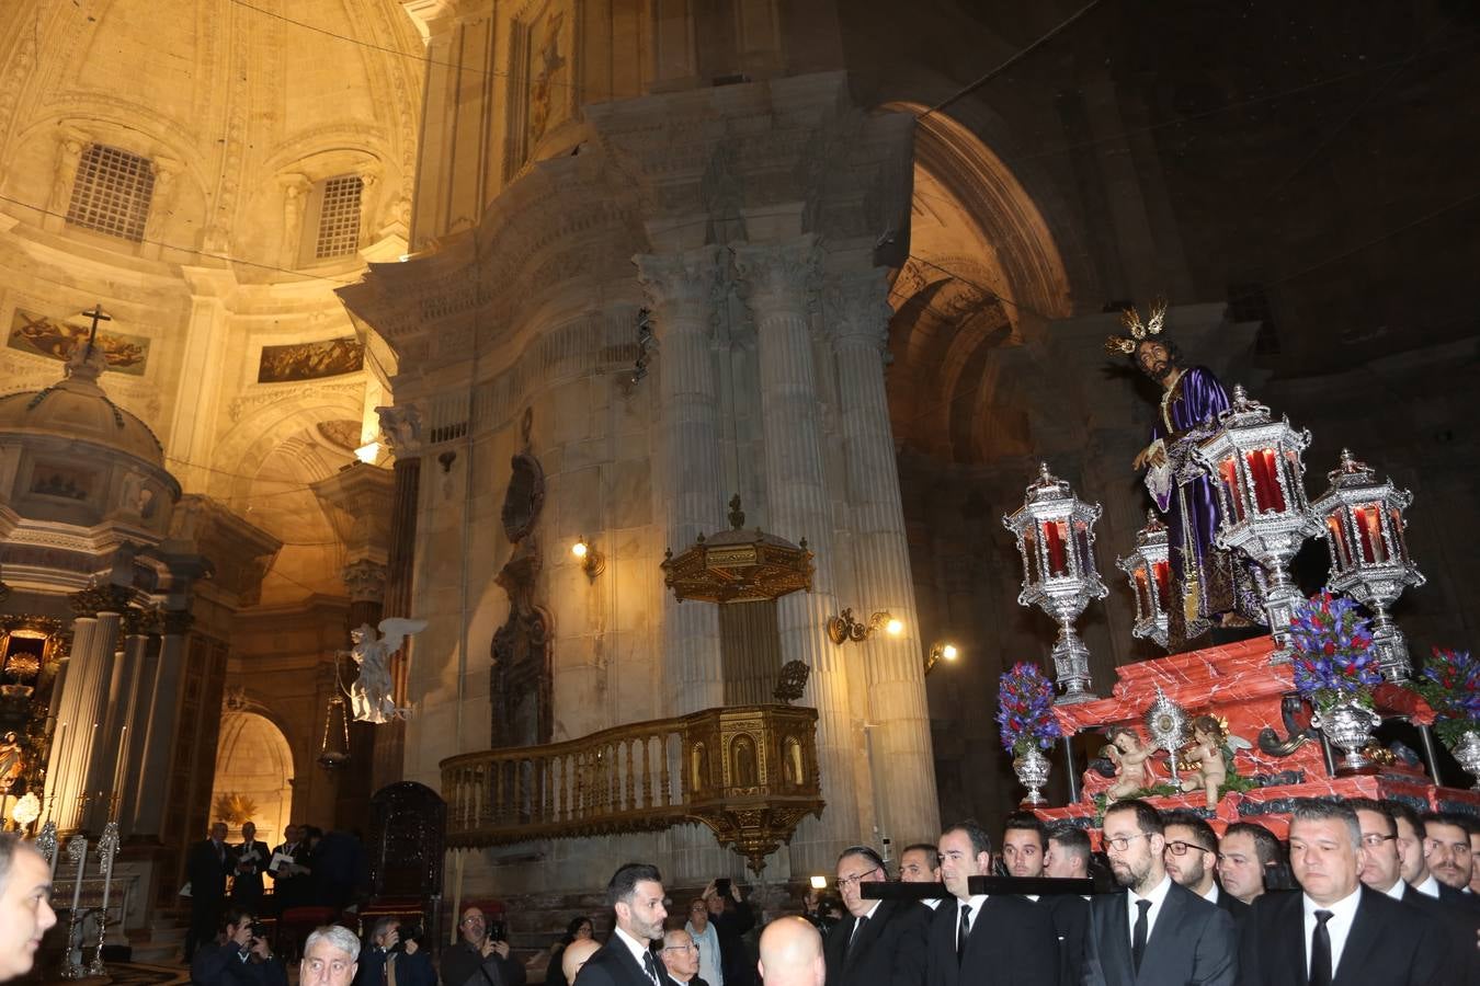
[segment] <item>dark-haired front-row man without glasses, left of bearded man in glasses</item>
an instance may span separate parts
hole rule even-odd
[[[926,946],[929,986],[1057,986],[1058,937],[1048,911],[1027,897],[975,894],[992,874],[992,837],[974,820],[940,835],[940,877],[950,897],[935,911]]]

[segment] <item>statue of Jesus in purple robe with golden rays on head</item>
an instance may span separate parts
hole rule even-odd
[[[1135,457],[1146,470],[1146,488],[1166,514],[1172,599],[1168,608],[1168,650],[1211,625],[1248,625],[1262,609],[1257,575],[1214,544],[1218,497],[1212,479],[1191,451],[1218,430],[1218,414],[1228,408],[1228,392],[1206,367],[1183,367],[1177,344],[1162,336],[1166,302],[1157,300],[1143,324],[1128,309],[1122,324],[1131,337],[1111,336],[1106,350],[1122,353],[1137,370],[1162,386],[1162,402],[1151,426],[1151,443]]]

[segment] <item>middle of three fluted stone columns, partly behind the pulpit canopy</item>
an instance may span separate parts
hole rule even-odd
[[[821,409],[813,359],[810,300],[818,248],[811,234],[777,245],[736,248],[755,318],[761,370],[761,423],[765,435],[768,528],[790,541],[807,538],[815,554],[811,593],[777,602],[783,661],[804,661],[813,673],[804,704],[817,710],[821,820],[804,819],[792,840],[792,872],[827,872],[839,846],[860,832],[845,652],[827,640],[833,597],[833,522],[823,469]]]

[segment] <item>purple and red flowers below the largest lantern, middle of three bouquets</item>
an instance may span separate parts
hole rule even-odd
[[[1323,591],[1295,608],[1291,618],[1295,690],[1320,711],[1344,702],[1372,707],[1382,683],[1372,650],[1372,628],[1350,599]]]

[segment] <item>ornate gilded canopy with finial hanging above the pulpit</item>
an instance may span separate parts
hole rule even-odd
[[[682,554],[663,556],[663,584],[678,602],[746,603],[813,588],[807,538],[792,544],[761,528],[744,531],[739,494],[730,498],[730,531],[703,534]]]

